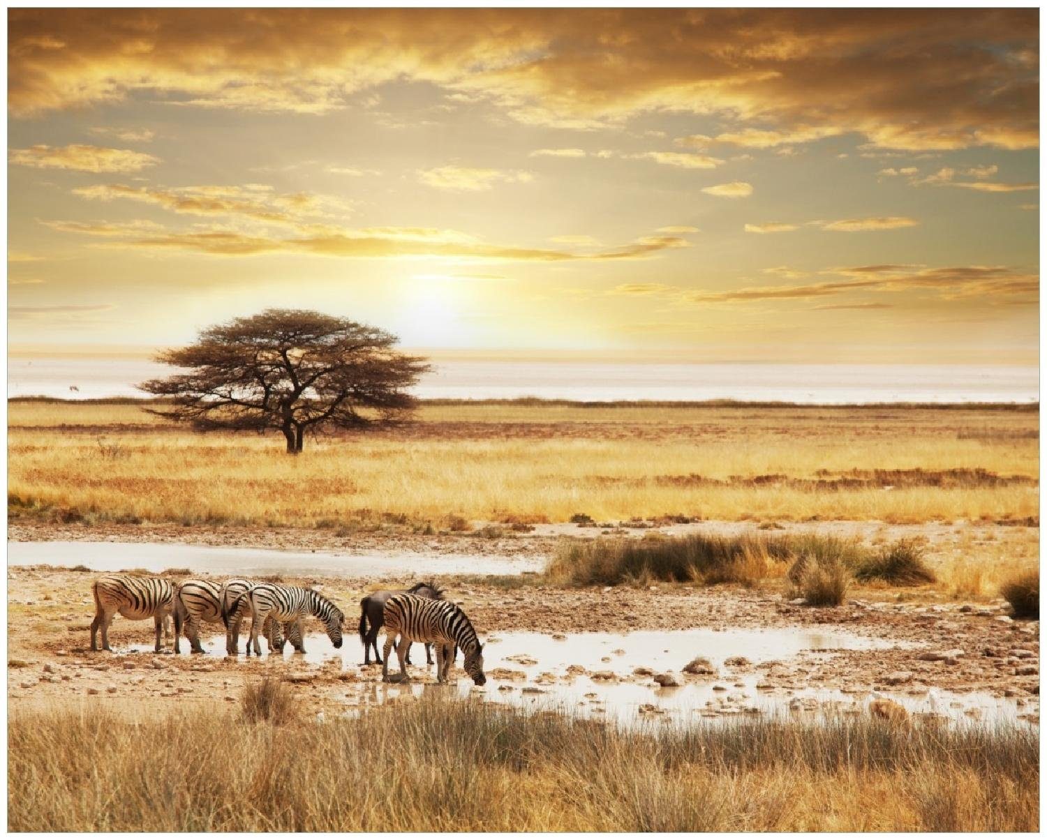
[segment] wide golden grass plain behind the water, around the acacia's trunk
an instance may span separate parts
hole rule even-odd
[[[440,527],[577,513],[1038,514],[1039,412],[1028,409],[426,405],[415,424],[310,441],[297,458],[275,437],[187,433],[128,403],[9,409],[12,502],[88,519],[352,526],[386,516]]]

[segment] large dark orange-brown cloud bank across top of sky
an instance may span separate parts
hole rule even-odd
[[[322,114],[403,81],[526,124],[664,112],[750,147],[1031,149],[1038,32],[1034,8],[18,8],[8,108]]]

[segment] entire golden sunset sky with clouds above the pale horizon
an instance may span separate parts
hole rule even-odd
[[[12,9],[12,346],[1034,364],[1035,9]]]

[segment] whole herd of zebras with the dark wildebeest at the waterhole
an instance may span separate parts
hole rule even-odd
[[[243,577],[228,581],[192,578],[180,583],[166,577],[135,574],[107,574],[91,587],[94,595],[94,620],[91,621],[91,650],[97,650],[102,632],[102,649],[109,646],[109,626],[117,613],[132,620],[152,618],[156,627],[155,650],[160,653],[168,641],[169,619],[174,620],[175,653],[180,653],[180,637],[184,632],[193,653],[203,653],[200,632],[204,623],[225,627],[225,651],[239,651],[243,621],[251,619],[247,639],[247,656],[253,649],[262,655],[259,634],[264,634],[272,652],[282,652],[290,641],[305,653],[303,633],[305,619],[315,616],[322,622],[328,638],[341,648],[341,632],[346,616],[329,598],[313,589],[283,586]],[[370,627],[369,627],[370,622]],[[384,655],[378,656],[378,631],[385,627]],[[364,664],[370,664],[370,649],[382,666],[382,681],[389,680],[388,657],[396,648],[400,662],[400,680],[407,681],[406,665],[410,662],[410,645],[425,643],[426,662],[431,664],[430,644],[436,646],[437,680],[445,682],[458,651],[465,658],[466,673],[476,685],[487,682],[484,676],[484,645],[472,622],[460,607],[444,600],[444,593],[432,584],[416,584],[405,591],[381,590],[360,601],[360,640],[363,642]],[[161,642],[162,638],[162,642]],[[397,640],[399,639],[399,640]]]

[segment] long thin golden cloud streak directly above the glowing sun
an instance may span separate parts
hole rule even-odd
[[[109,240],[104,246],[107,248],[177,250],[214,256],[291,253],[361,259],[430,257],[496,263],[567,263],[646,259],[663,251],[689,247],[686,240],[667,235],[641,236],[627,245],[596,253],[575,253],[492,245],[468,233],[442,228],[298,225],[294,234],[272,235],[224,228],[170,230],[148,221],[92,223],[54,220],[44,224],[66,233]]]

